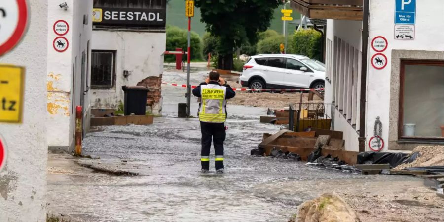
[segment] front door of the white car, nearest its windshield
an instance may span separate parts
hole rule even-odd
[[[284,77],[286,85],[297,88],[310,87],[310,77],[314,76],[313,71],[296,59],[287,58],[286,66],[287,69]],[[301,70],[303,67],[306,71]]]

